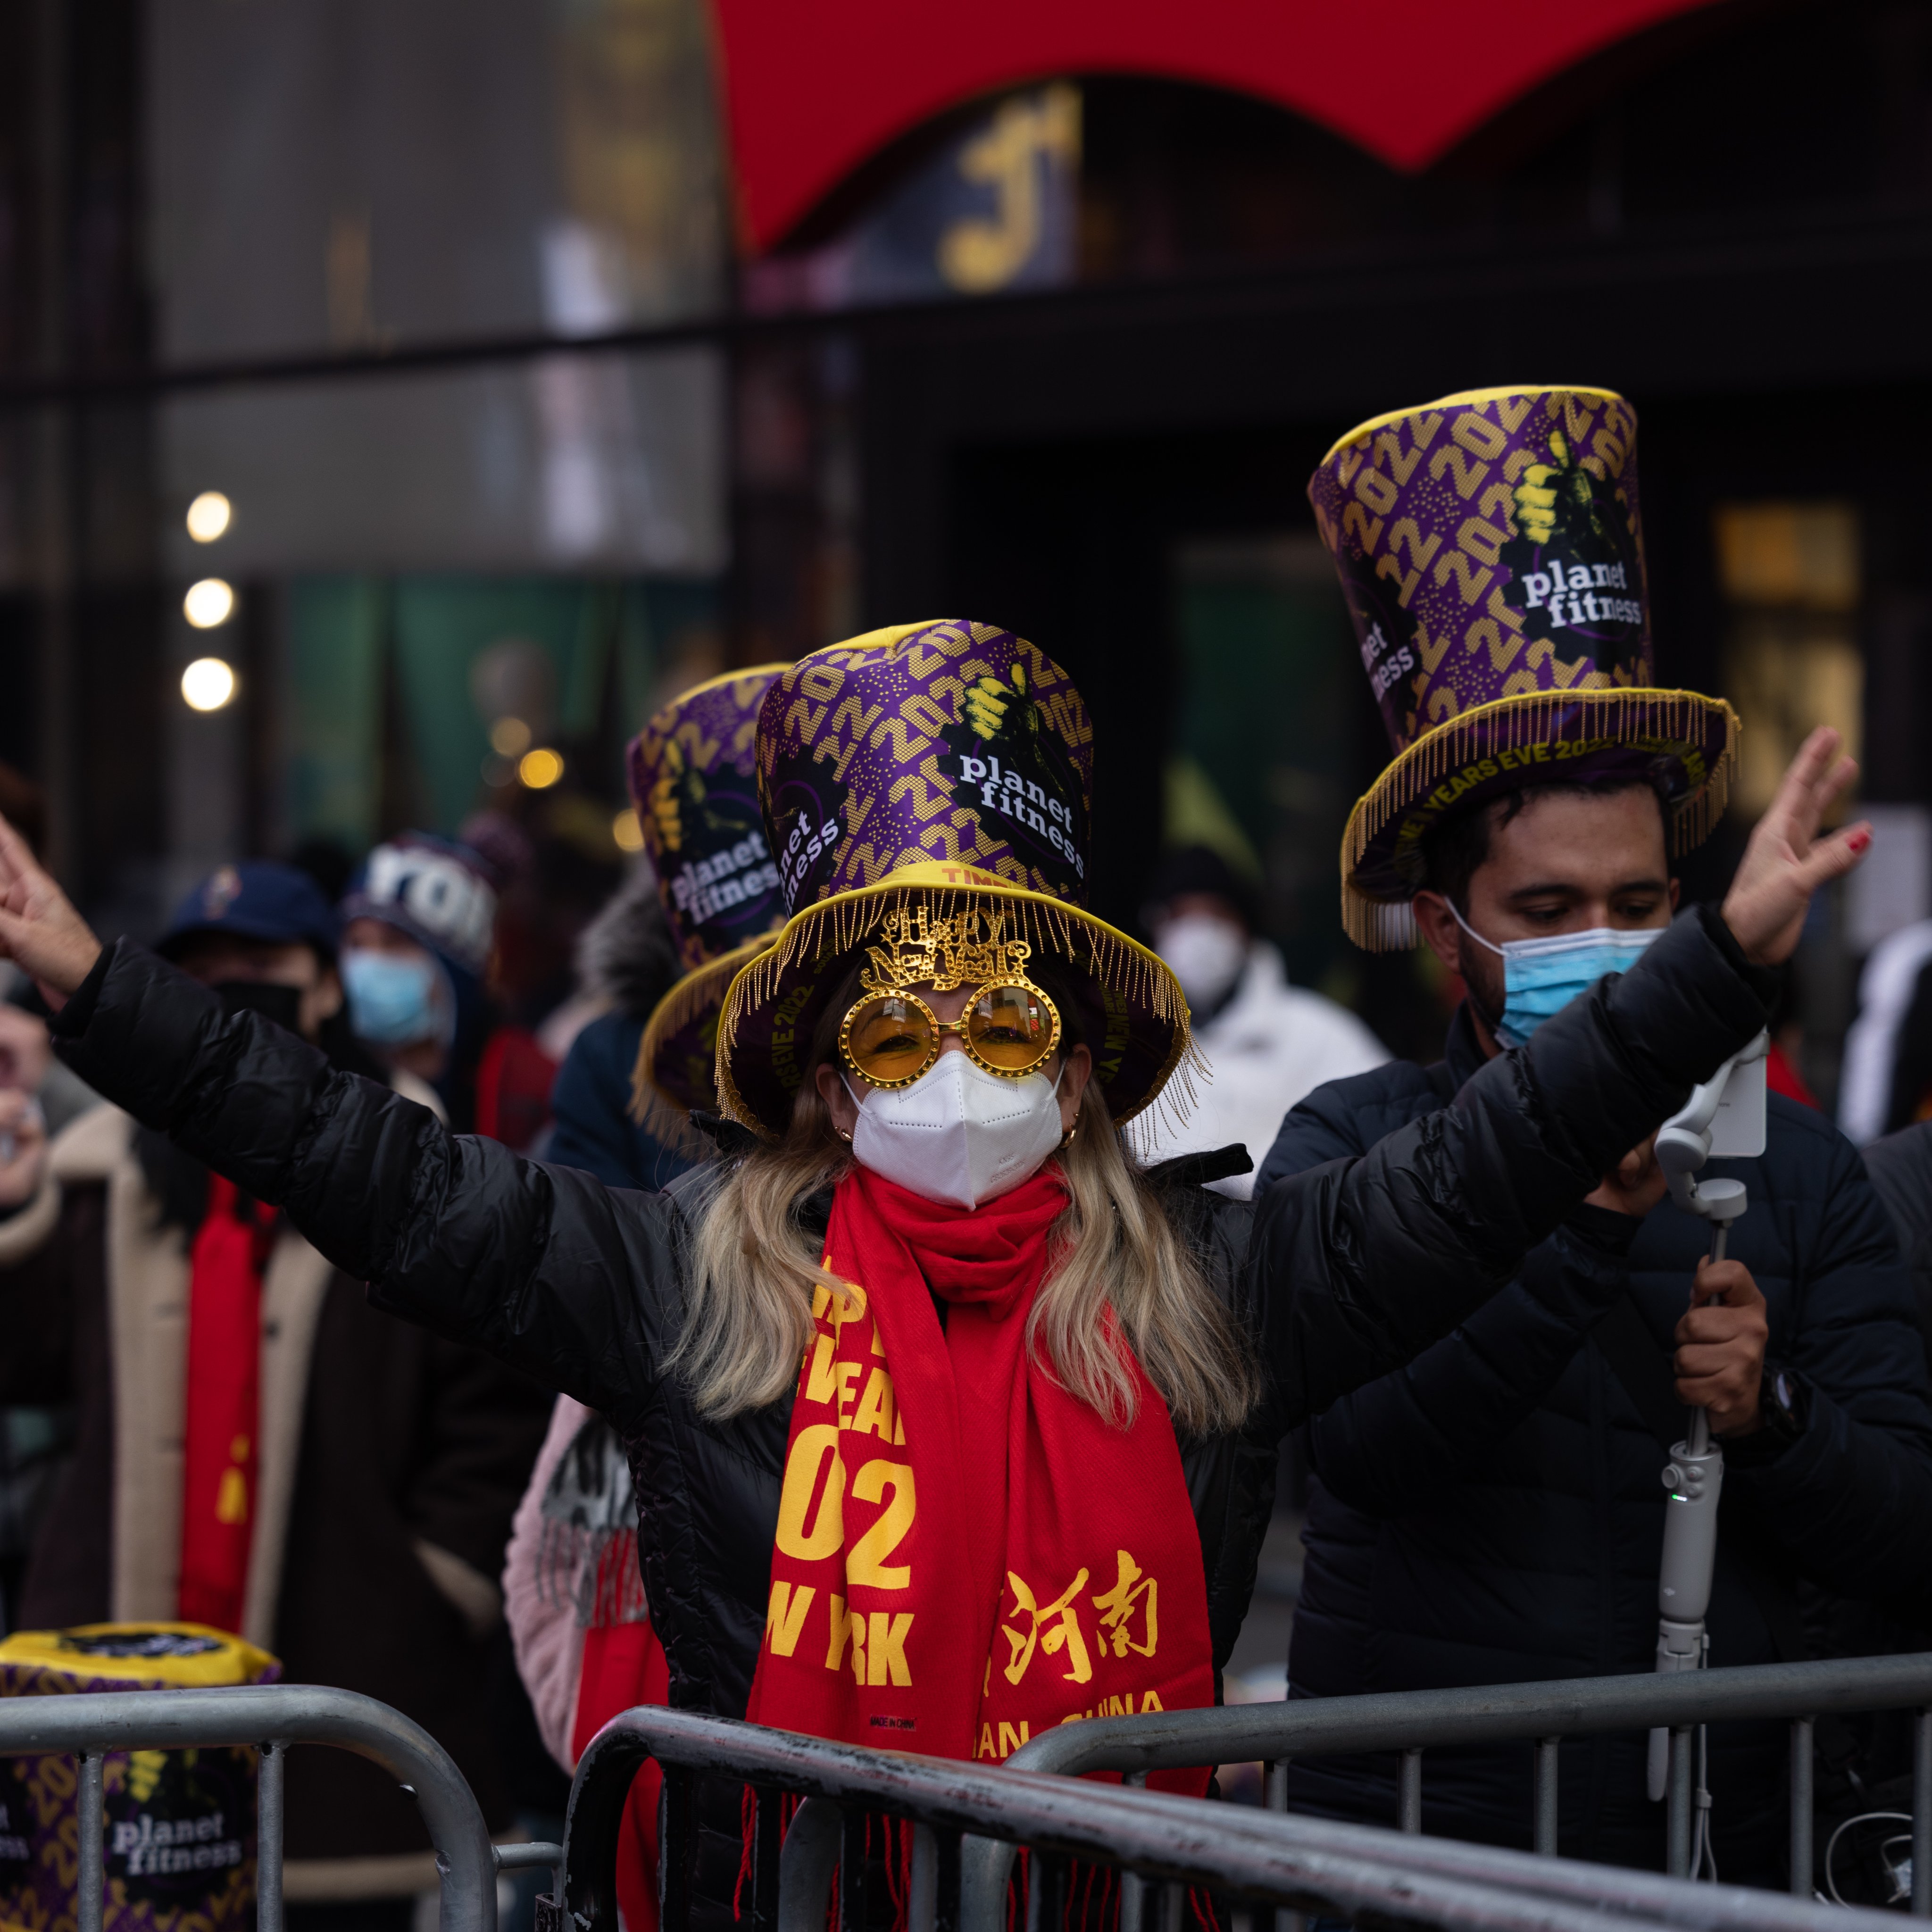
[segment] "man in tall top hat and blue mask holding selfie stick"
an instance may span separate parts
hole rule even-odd
[[[1542,564],[1520,566],[1517,595],[1544,597],[1542,612],[1519,605],[1530,622],[1557,622],[1551,554],[1578,585],[1642,587],[1634,510],[1625,508],[1636,502],[1634,417],[1621,400],[1488,392],[1428,415],[1437,429],[1455,415],[1495,454],[1515,440],[1513,473],[1530,493],[1519,524],[1544,533]],[[1604,429],[1621,475],[1607,458],[1598,458],[1602,477],[1569,462],[1578,423]],[[1644,688],[1640,597],[1592,591],[1588,611],[1580,589],[1559,599],[1565,651],[1636,653],[1619,659],[1623,688],[1513,697],[1488,682],[1499,659],[1457,647],[1457,630],[1445,630],[1451,647],[1414,686],[1379,678],[1381,657],[1408,632],[1389,628],[1397,612],[1374,601],[1383,580],[1341,529],[1339,471],[1393,462],[1389,452],[1424,427],[1393,417],[1370,425],[1381,431],[1372,442],[1345,439],[1310,495],[1378,696],[1391,697],[1399,753],[1347,829],[1345,914],[1366,945],[1395,943],[1412,918],[1466,997],[1439,1065],[1395,1063],[1308,1095],[1283,1122],[1262,1190],[1437,1115],[1573,999],[1602,999],[1592,987],[1627,976],[1671,925],[1671,840],[1681,850],[1708,831],[1729,775],[1729,707]],[[1403,473],[1428,475],[1412,464]],[[1424,543],[1441,527],[1432,518],[1459,506],[1420,487],[1405,495],[1395,475],[1379,481],[1395,493],[1391,514],[1416,510]],[[1559,506],[1565,491],[1586,498],[1598,524],[1578,510],[1559,543],[1544,491]],[[1455,541],[1461,514],[1443,541]],[[1451,593],[1418,599],[1403,622],[1434,634],[1466,622],[1459,612]],[[1476,723],[1457,723],[1470,711]],[[1435,715],[1451,723],[1420,728]],[[1824,757],[1830,740],[1814,734],[1801,759]],[[1648,1671],[1663,1544],[1658,1478],[1685,1405],[1710,1410],[1725,1451],[1712,1663],[1803,1658],[1799,1578],[1851,1598],[1932,1580],[1932,1381],[1911,1281],[1851,1144],[1781,1095],[1768,1111],[1764,1155],[1712,1169],[1748,1190],[1729,1260],[1712,1264],[1710,1227],[1667,1200],[1634,1217],[1605,1211],[1644,1208],[1638,1182],[1654,1163],[1636,1150],[1501,1294],[1308,1426],[1314,1480],[1291,1696]],[[1660,1192],[1652,1184],[1650,1200]],[[1663,1806],[1646,1797],[1644,1754],[1642,1733],[1565,1743],[1565,1855],[1662,1861]],[[1777,1882],[1783,1758],[1781,1727],[1712,1727],[1721,1876]],[[1289,1804],[1385,1824],[1393,1766],[1298,1758]],[[1459,1750],[1424,1787],[1424,1830],[1445,1835],[1526,1845],[1530,1810],[1530,1758],[1515,1745]]]

